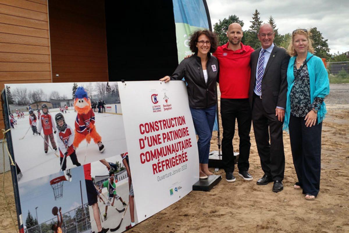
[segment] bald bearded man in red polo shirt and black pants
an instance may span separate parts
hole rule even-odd
[[[248,102],[251,67],[250,55],[254,51],[241,43],[242,27],[232,23],[227,31],[228,43],[219,46],[213,55],[220,65],[219,85],[221,91],[221,117],[223,126],[222,153],[225,179],[234,182],[235,156],[232,140],[235,133],[235,119],[238,122],[240,138],[238,169],[244,180],[253,180],[248,173],[250,163],[251,109]]]

